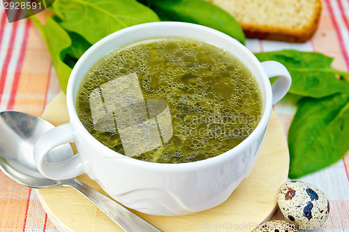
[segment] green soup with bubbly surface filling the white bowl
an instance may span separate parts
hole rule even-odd
[[[183,163],[225,153],[262,114],[251,72],[190,38],[154,38],[98,61],[77,92],[77,114],[105,146],[138,160]]]

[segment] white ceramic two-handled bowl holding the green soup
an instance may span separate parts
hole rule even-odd
[[[204,40],[226,49],[244,63],[262,92],[260,123],[241,144],[207,160],[184,164],[158,164],[135,160],[103,146],[87,132],[75,110],[77,88],[92,65],[130,42],[163,36]],[[268,77],[279,76],[273,86]],[[258,59],[234,38],[214,29],[181,22],[154,22],[122,29],[96,42],[77,61],[70,75],[66,100],[70,122],[47,132],[36,143],[39,171],[47,178],[65,179],[87,173],[115,200],[151,215],[186,215],[217,206],[228,199],[250,175],[267,128],[272,105],[290,87],[290,75],[280,63]],[[45,162],[55,146],[75,142],[77,155],[60,164]]]

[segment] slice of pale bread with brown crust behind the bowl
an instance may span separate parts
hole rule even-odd
[[[207,0],[232,14],[247,38],[306,42],[318,27],[321,0]]]

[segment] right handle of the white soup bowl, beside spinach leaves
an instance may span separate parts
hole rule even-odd
[[[274,105],[276,102],[279,102],[279,100],[281,100],[284,95],[286,95],[286,93],[290,89],[292,79],[285,66],[279,62],[264,61],[261,64],[269,78],[278,77],[274,84],[272,84]]]

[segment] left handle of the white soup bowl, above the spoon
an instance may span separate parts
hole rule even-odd
[[[55,147],[75,141],[75,132],[70,123],[54,127],[43,134],[34,146],[34,160],[40,173],[52,180],[65,180],[84,173],[84,166],[79,155],[58,163],[50,163],[45,160],[47,153],[53,152]],[[59,153],[52,154],[52,152],[50,156],[59,155]]]

